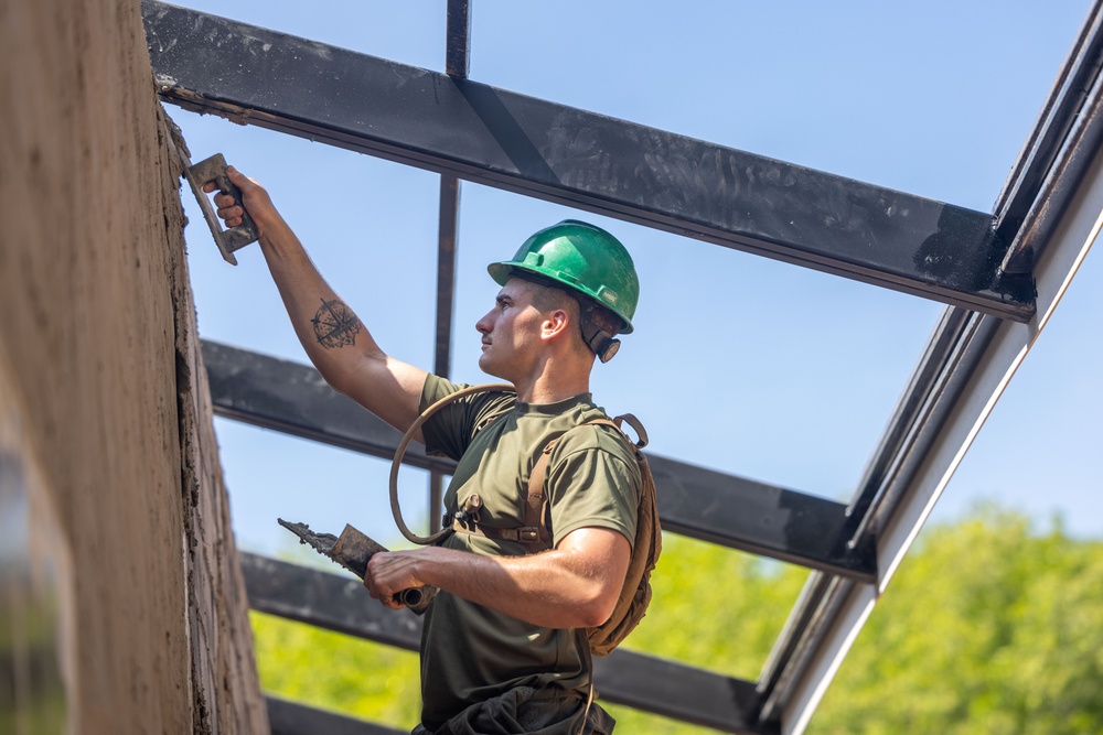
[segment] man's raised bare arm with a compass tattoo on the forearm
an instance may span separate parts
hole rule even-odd
[[[218,216],[229,227],[240,224],[242,205],[253,216],[268,269],[310,361],[335,390],[406,431],[418,415],[425,370],[384,353],[318,272],[268,192],[233,166],[227,173],[242,190],[243,202],[216,195]],[[208,185],[208,190],[213,187]]]

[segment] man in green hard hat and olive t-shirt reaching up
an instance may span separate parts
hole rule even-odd
[[[253,216],[291,324],[334,389],[400,431],[460,389],[384,353],[267,192],[228,173],[243,202],[216,195],[218,215],[236,226],[244,204]],[[517,529],[548,439],[604,417],[590,397],[590,370],[615,352],[618,333],[632,331],[639,282],[615,238],[576,220],[536,233],[489,271],[501,290],[475,324],[479,367],[515,392],[475,393],[425,423],[416,439],[458,462],[445,497],[456,532],[440,545],[374,555],[364,584],[393,608],[403,590],[440,590],[425,617],[415,735],[609,733],[612,718],[588,700],[591,663],[579,631],[610,617],[635,538],[640,468],[615,430],[577,429],[552,453],[552,548],[533,553]]]

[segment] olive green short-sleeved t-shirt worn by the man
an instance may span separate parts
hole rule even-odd
[[[429,376],[422,410],[460,388]],[[597,418],[606,414],[589,393],[550,404],[521,403],[514,393],[474,393],[446,407],[421,429],[430,453],[458,462],[446,509],[456,512],[458,502],[478,493],[481,525],[524,526],[528,476],[539,453],[550,439]],[[549,457],[545,487],[555,543],[587,527],[613,529],[634,541],[640,467],[610,426],[585,426],[565,436]],[[524,543],[471,533],[452,533],[443,545],[490,556],[531,552]],[[574,630],[523,623],[441,592],[421,633],[421,723],[436,729],[470,704],[515,687],[558,687],[585,696],[586,660]]]

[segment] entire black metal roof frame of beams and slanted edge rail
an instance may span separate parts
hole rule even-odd
[[[298,53],[303,44],[321,44],[154,0],[142,8],[165,101],[441,173],[435,365],[442,375],[450,360],[460,179],[950,304],[848,504],[652,461],[667,530],[813,571],[757,682],[620,651],[597,666],[602,695],[721,731],[795,735],[1103,227],[1101,4],[1094,3],[990,215],[470,82],[468,0],[448,2],[446,74],[332,47]],[[238,43],[214,44],[214,37]],[[249,68],[255,61],[225,54],[261,43],[270,50],[250,52],[267,54],[265,74],[205,73]],[[371,130],[326,93],[338,80],[349,84],[350,69],[363,83],[354,97],[378,100]],[[307,100],[304,88],[318,95]],[[465,142],[442,137],[442,126],[461,126]],[[580,130],[590,131],[602,155],[566,155],[540,142]],[[611,182],[610,166],[635,161],[641,151],[676,159],[695,176],[644,170]],[[739,171],[754,172],[758,188]],[[670,191],[678,201],[665,195]],[[845,217],[833,205],[839,197],[860,209],[860,226],[838,219]],[[910,215],[899,216],[904,209]],[[204,344],[204,357],[221,415],[376,456],[389,457],[397,443],[396,432],[329,390],[310,368],[214,343]],[[416,451],[407,462],[430,469],[439,493],[448,463]],[[736,505],[741,514],[706,512]],[[413,617],[384,618],[340,602],[347,598],[335,591],[347,580],[249,554],[243,568],[258,609],[416,647]],[[314,732],[333,717],[276,700],[269,711],[274,732],[289,734]],[[389,732],[331,724],[340,732]]]

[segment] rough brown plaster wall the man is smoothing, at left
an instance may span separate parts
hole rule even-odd
[[[72,560],[71,726],[266,732],[138,0],[0,0],[0,370]]]

